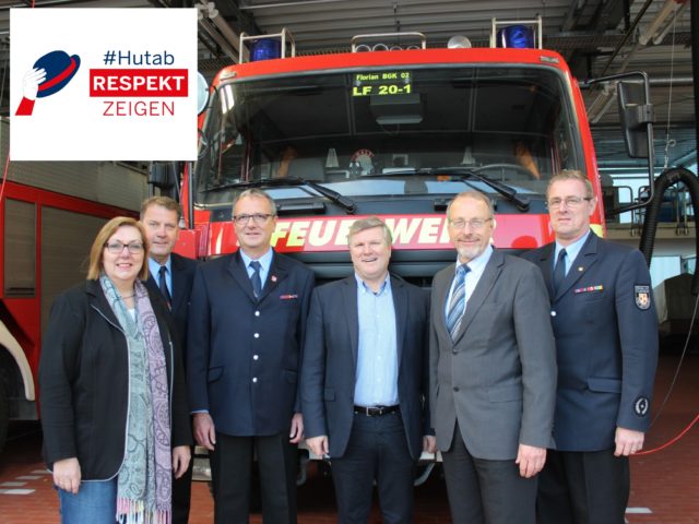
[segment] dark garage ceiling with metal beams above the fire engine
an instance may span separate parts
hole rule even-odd
[[[9,12],[10,8],[28,8],[32,3],[0,0],[0,114],[4,116],[9,114]],[[531,20],[541,15],[544,47],[560,52],[579,80],[645,71],[653,83],[657,120],[656,165],[696,162],[688,0],[36,0],[34,4],[36,9],[211,4],[209,11],[215,9],[235,34],[276,33],[286,27],[300,55],[345,51],[354,35],[396,31],[424,33],[428,47],[445,47],[457,34],[467,36],[474,47],[485,47],[493,17]],[[655,41],[641,45],[659,17],[664,23],[655,33]],[[226,44],[222,44],[225,35],[214,29],[212,36],[204,25],[200,25],[199,67],[211,78],[232,59],[225,52]],[[584,98],[600,166],[642,165],[625,154],[616,104],[607,103],[599,91],[584,92]]]

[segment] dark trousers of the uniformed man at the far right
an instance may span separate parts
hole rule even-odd
[[[629,460],[605,451],[552,451],[540,474],[540,524],[624,524]]]

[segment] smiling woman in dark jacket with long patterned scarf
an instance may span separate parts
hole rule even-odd
[[[44,454],[61,522],[169,523],[171,474],[190,461],[179,348],[151,298],[133,218],[97,234],[85,283],[51,309],[39,365]]]

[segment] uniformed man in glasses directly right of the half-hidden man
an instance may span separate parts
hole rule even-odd
[[[298,372],[313,273],[275,252],[274,201],[240,193],[240,249],[201,264],[189,314],[194,438],[211,451],[214,521],[248,522],[257,456],[265,523],[296,522],[296,444],[304,434]]]

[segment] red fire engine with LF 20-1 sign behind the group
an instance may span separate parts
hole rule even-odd
[[[319,283],[351,273],[348,227],[377,215],[393,231],[391,271],[428,287],[454,260],[445,211],[455,194],[490,196],[497,248],[532,249],[553,239],[545,190],[562,169],[589,177],[600,202],[592,228],[604,235],[580,85],[561,56],[542,49],[541,34],[541,19],[493,20],[489,48],[463,37],[430,48],[423,34],[398,33],[359,35],[352,52],[316,56],[296,56],[286,29],[242,34],[250,61],[241,52],[218,72],[202,104],[180,251],[235,251],[232,202],[262,188],[277,204],[274,248]],[[648,97],[631,105],[636,117],[624,121],[637,153],[652,144],[651,116],[638,111]]]

